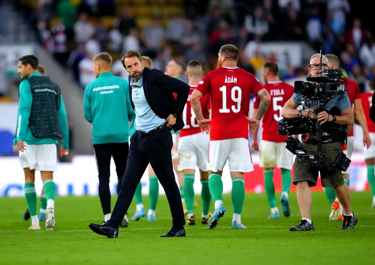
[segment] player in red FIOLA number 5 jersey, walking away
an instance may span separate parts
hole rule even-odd
[[[292,164],[293,154],[285,148],[287,136],[278,134],[278,122],[283,119],[281,109],[285,102],[293,96],[294,87],[278,78],[279,68],[276,63],[268,62],[262,68],[264,89],[271,96],[272,106],[268,108],[263,116],[262,136],[260,144],[260,166],[264,169],[264,188],[266,190],[268,203],[271,207],[271,215],[269,219],[279,219],[279,209],[276,206],[275,185],[273,184],[273,169],[277,164],[281,169],[282,175],[282,193],[280,202],[285,217],[290,216],[290,206],[288,194],[292,184]],[[257,113],[260,98],[254,98],[254,113]],[[253,133],[252,148],[259,151],[258,129]]]

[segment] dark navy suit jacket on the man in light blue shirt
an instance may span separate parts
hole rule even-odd
[[[130,86],[131,78],[129,75],[129,96],[134,109],[132,87]],[[165,75],[160,70],[145,67],[143,69],[143,90],[148,105],[158,117],[166,119],[170,114],[178,114],[176,123],[172,127],[175,132],[185,126],[181,114],[189,96],[190,86],[188,84]],[[176,99],[173,93],[177,93]]]

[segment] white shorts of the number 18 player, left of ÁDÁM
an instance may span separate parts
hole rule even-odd
[[[207,172],[208,142],[210,136],[197,133],[180,137],[178,141],[178,171],[198,169]]]

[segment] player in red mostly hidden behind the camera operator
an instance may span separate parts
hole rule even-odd
[[[329,68],[338,69],[340,68],[340,61],[339,58],[335,54],[326,54],[326,57],[329,62]],[[355,81],[348,79],[348,97],[350,104],[353,106],[354,104],[354,112],[357,115],[357,119],[359,124],[363,130],[363,145],[367,148],[371,145],[371,139],[369,136],[369,130],[367,128],[366,117],[365,113],[363,112],[362,103],[360,99],[360,93],[358,85]],[[351,155],[353,154],[354,150],[354,133],[353,133],[353,125],[348,126],[348,140],[347,144],[343,146],[343,152],[347,157],[350,159]],[[342,176],[344,177],[345,184],[349,187],[349,168],[347,171],[342,172]],[[336,197],[336,193],[334,188],[327,187],[324,189],[326,192],[327,199],[331,205],[331,212],[329,215],[330,221],[342,221],[343,220],[343,209],[339,203],[339,199]]]

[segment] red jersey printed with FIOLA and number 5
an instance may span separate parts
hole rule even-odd
[[[265,84],[264,88],[270,93],[271,104],[263,116],[262,140],[283,143],[288,136],[278,134],[278,122],[283,119],[281,117],[281,109],[285,102],[292,97],[294,87],[283,81],[274,81]],[[255,97],[254,99],[254,108],[259,108],[260,98]]]

